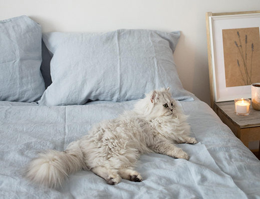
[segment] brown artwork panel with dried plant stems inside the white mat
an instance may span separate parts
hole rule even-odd
[[[226,87],[260,82],[259,27],[222,30]]]

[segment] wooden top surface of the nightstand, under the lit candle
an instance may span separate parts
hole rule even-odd
[[[214,102],[214,106],[218,108],[239,128],[257,127],[260,126],[260,111],[256,111],[250,105],[250,114],[247,116],[236,115],[234,113],[234,101]]]

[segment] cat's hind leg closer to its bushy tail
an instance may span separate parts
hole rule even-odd
[[[96,175],[104,178],[108,184],[115,185],[121,181],[120,175],[115,170],[108,169],[104,166],[97,166],[91,169]]]

